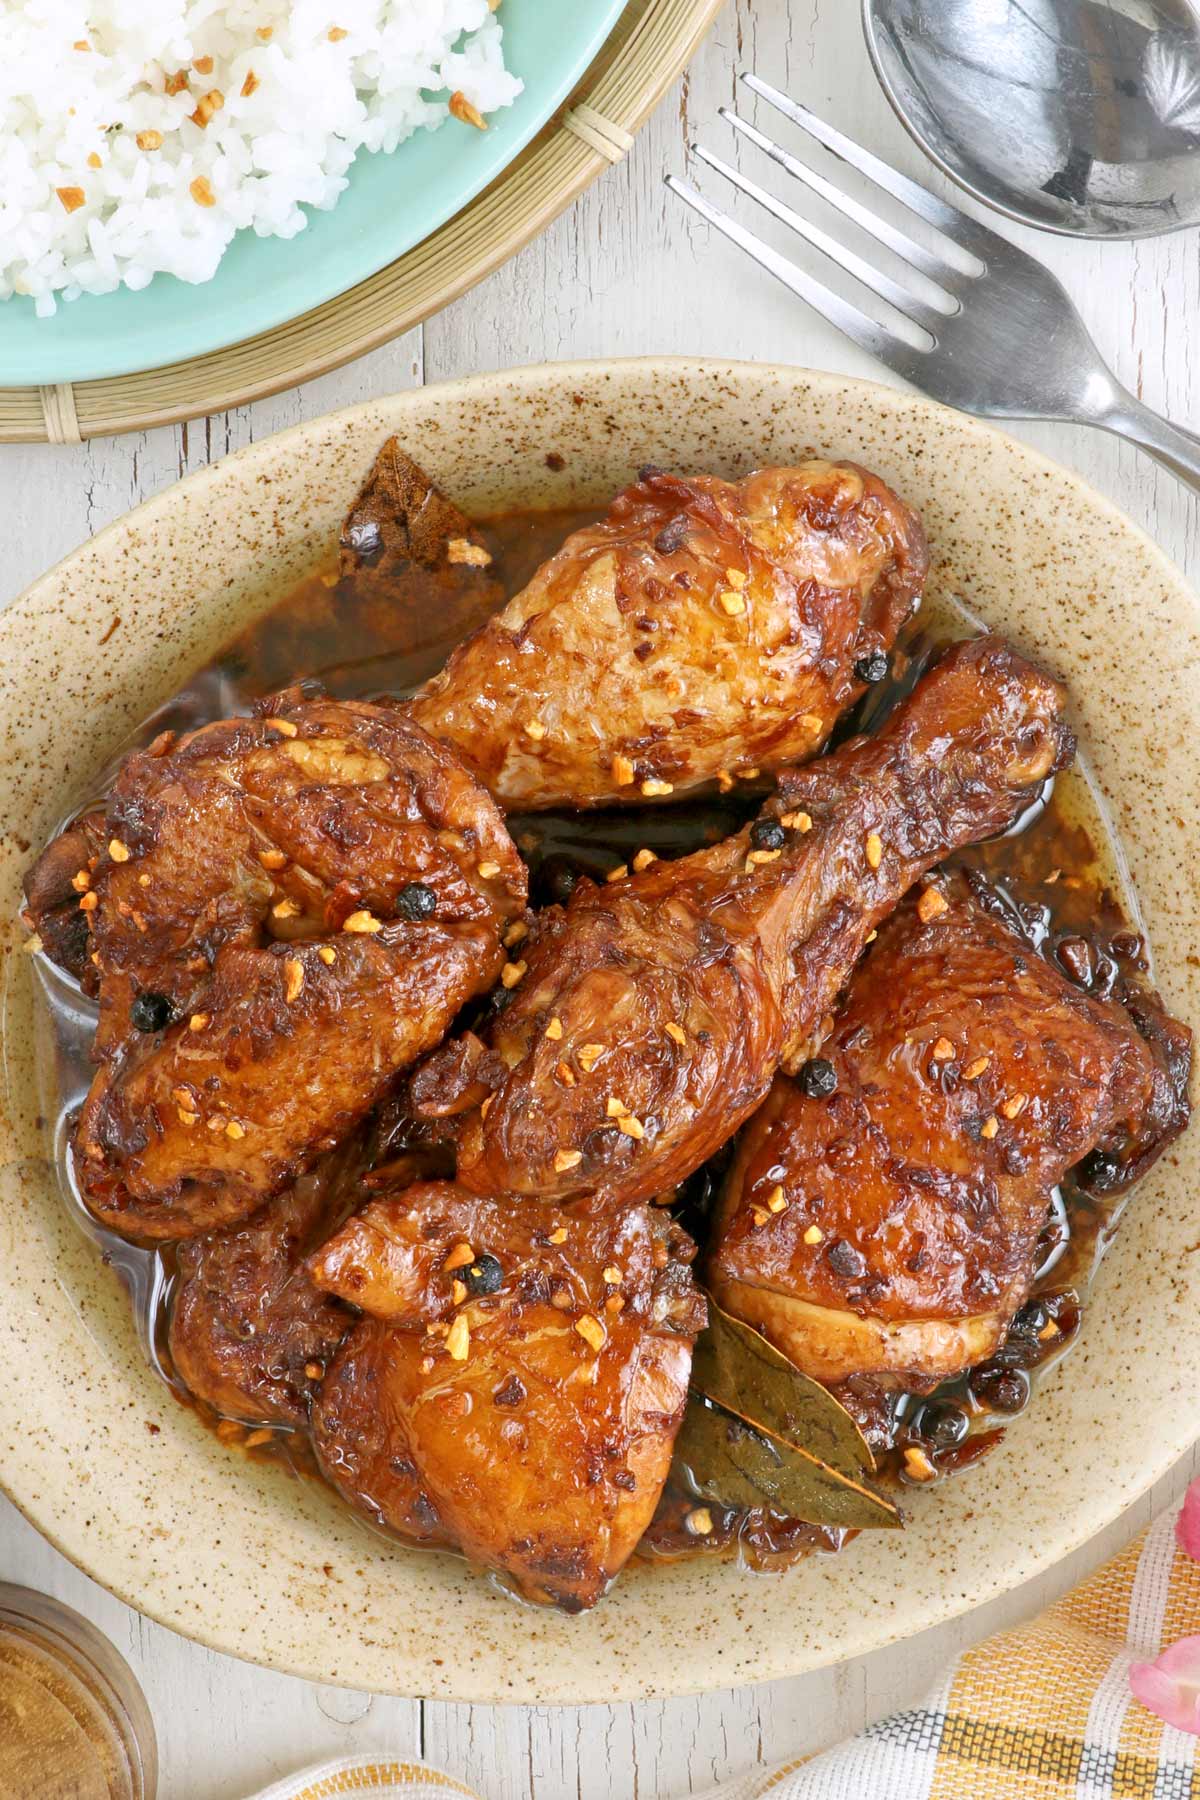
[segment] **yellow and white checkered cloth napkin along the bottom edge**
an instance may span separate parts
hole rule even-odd
[[[1198,1553],[1200,1481],[1182,1514],[1049,1611],[961,1656],[921,1706],[705,1800],[1200,1800]],[[479,1800],[448,1775],[371,1759],[255,1800],[335,1795]]]

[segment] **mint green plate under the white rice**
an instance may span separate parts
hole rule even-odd
[[[212,281],[155,275],[131,293],[59,301],[38,319],[32,301],[0,301],[0,385],[32,387],[133,374],[272,331],[345,293],[444,225],[525,148],[570,94],[624,0],[504,0],[504,61],[524,94],[486,131],[448,119],[390,157],[360,153],[331,212],[308,209],[297,238],[239,232]]]

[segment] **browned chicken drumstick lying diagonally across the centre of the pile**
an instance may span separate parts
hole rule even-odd
[[[689,1175],[820,1037],[905,889],[1009,826],[1069,760],[1061,700],[1000,639],[959,644],[878,736],[784,776],[757,824],[579,884],[543,914],[488,1044],[446,1046],[414,1078],[417,1111],[475,1107],[459,1181],[637,1201]]]

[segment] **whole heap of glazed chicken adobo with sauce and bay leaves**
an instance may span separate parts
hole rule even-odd
[[[59,1174],[164,1370],[570,1613],[639,1543],[781,1566],[991,1447],[1191,1062],[1083,828],[1042,860],[1063,688],[903,632],[927,545],[876,475],[648,468],[588,520],[470,520],[389,441],[340,572],[146,727],[23,914]]]

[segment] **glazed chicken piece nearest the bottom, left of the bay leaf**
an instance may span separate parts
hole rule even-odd
[[[703,1301],[666,1213],[515,1208],[425,1183],[309,1262],[362,1307],[313,1408],[327,1478],[525,1598],[594,1606],[649,1523]]]

